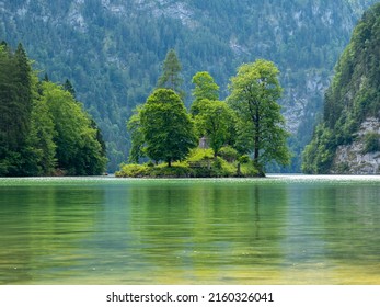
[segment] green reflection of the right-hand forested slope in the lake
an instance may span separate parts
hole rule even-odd
[[[379,185],[359,182],[333,185],[321,189],[314,198],[320,207],[322,237],[329,243],[326,258],[339,263],[379,268]]]

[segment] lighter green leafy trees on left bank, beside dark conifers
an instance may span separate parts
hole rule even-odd
[[[43,98],[55,123],[58,169],[68,174],[100,174],[105,158],[97,129],[70,92],[61,87],[43,82]]]

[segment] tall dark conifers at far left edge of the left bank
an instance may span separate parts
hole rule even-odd
[[[32,73],[23,46],[13,54],[0,46],[0,174],[22,173],[28,163],[32,123]]]

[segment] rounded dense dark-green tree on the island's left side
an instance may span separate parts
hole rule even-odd
[[[145,152],[152,160],[165,161],[171,167],[173,161],[184,159],[196,147],[193,122],[173,90],[157,89],[139,114]]]

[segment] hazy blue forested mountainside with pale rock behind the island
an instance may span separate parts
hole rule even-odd
[[[0,0],[0,39],[22,42],[53,81],[69,79],[99,123],[110,170],[126,160],[125,122],[157,84],[174,48],[191,79],[207,70],[228,93],[242,62],[277,64],[296,151],[310,140],[324,90],[350,32],[375,0]]]

